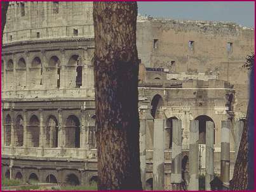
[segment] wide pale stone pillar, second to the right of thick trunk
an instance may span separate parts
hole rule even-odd
[[[153,189],[165,187],[165,120],[154,119]]]

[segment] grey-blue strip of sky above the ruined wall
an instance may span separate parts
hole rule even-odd
[[[140,15],[235,22],[254,28],[254,2],[138,2]]]

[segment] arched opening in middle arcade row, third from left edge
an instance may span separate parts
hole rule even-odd
[[[29,147],[39,147],[39,120],[36,115],[32,115],[29,120],[29,127],[27,129],[27,140]]]

